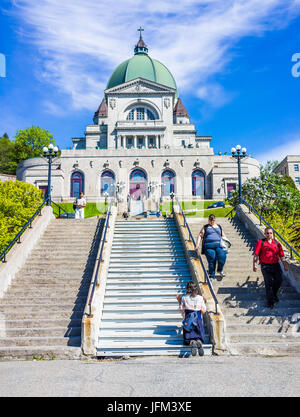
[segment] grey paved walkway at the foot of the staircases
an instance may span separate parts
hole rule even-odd
[[[300,358],[0,362],[0,397],[296,397]]]

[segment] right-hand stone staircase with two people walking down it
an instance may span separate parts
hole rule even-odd
[[[196,240],[206,219],[188,220]],[[266,307],[260,267],[252,271],[256,240],[237,218],[217,219],[232,242],[225,265],[226,277],[212,281],[226,320],[229,353],[233,355],[300,355],[300,337],[293,315],[300,313],[300,294],[284,279],[280,302]],[[207,267],[205,255],[202,255]],[[299,336],[299,332],[298,332]]]

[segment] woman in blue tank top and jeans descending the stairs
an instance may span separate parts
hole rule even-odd
[[[223,269],[226,263],[226,251],[221,246],[221,239],[223,237],[226,238],[222,227],[217,224],[216,216],[211,214],[208,218],[208,224],[204,225],[200,230],[195,247],[198,250],[202,240],[201,253],[206,256],[210,278],[215,278],[217,262],[218,274],[221,278],[225,277]]]

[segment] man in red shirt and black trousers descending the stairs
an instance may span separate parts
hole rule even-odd
[[[277,292],[282,283],[282,272],[279,259],[283,263],[284,270],[288,270],[282,246],[274,240],[273,229],[265,229],[265,239],[259,240],[256,244],[253,257],[253,271],[257,271],[257,261],[260,261],[261,272],[265,281],[267,306],[274,307],[277,303]]]

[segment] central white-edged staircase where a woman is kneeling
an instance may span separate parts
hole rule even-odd
[[[98,356],[180,355],[176,300],[191,280],[173,219],[117,221],[100,323]],[[204,351],[211,354],[206,334]]]

